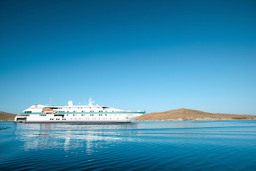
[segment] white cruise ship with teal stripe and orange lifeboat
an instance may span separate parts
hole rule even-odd
[[[93,105],[89,99],[88,105],[54,106],[50,104],[35,104],[19,113],[14,123],[130,123],[145,112],[132,112]]]

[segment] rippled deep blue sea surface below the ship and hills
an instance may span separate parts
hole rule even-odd
[[[0,170],[256,170],[256,120],[0,122]]]

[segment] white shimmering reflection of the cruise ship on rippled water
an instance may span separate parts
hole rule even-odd
[[[123,124],[20,124],[17,138],[24,142],[20,150],[63,149],[71,154],[94,153],[100,148],[134,141],[140,142],[140,125]],[[73,150],[79,150],[74,152]]]

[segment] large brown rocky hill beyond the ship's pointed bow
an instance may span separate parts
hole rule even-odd
[[[256,120],[256,115],[209,113],[181,108],[166,112],[145,113],[134,121],[151,120]]]

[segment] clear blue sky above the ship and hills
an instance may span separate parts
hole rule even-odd
[[[0,1],[0,111],[256,114],[256,1]]]

